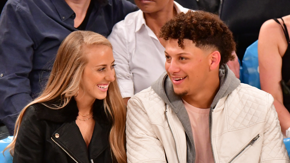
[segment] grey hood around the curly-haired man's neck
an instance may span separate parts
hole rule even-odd
[[[241,83],[226,64],[223,64],[219,69],[219,78],[220,89],[213,99],[211,108],[214,108],[221,98],[229,95]],[[183,106],[180,101],[181,97],[174,93],[172,82],[167,73],[162,74],[159,79],[151,85],[151,87],[167,105],[173,108],[175,113],[179,112]]]

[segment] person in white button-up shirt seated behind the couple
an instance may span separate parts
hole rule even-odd
[[[113,45],[115,70],[123,98],[151,86],[165,72],[161,26],[176,13],[187,12],[173,0],[135,0],[141,9],[117,23],[108,37]]]

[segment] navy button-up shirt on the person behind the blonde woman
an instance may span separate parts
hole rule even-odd
[[[109,35],[137,10],[126,0],[95,0],[86,30]],[[65,0],[8,0],[0,17],[0,121],[12,135],[21,109],[47,82],[61,41],[74,28]]]

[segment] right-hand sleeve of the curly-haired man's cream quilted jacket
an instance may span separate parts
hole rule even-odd
[[[278,114],[273,105],[274,99],[270,94],[268,100],[269,106],[267,107],[268,111],[266,115],[260,162],[289,162],[289,156],[283,143],[283,135],[278,120]]]

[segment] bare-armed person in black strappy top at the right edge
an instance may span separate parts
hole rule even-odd
[[[290,137],[290,15],[263,23],[258,39],[261,89],[274,97],[282,132]]]

